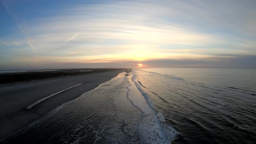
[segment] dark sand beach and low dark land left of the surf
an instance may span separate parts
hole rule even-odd
[[[80,72],[80,70],[93,71]],[[71,101],[99,84],[107,82],[125,70],[127,69],[69,69],[1,74],[0,81],[5,86],[0,87],[0,139],[36,121],[58,105]],[[7,78],[10,78],[10,81]],[[3,79],[5,81],[2,81]],[[26,109],[27,106],[41,98],[80,83],[83,84],[47,98],[30,110]]]

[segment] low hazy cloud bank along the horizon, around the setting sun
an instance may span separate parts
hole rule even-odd
[[[237,56],[233,58],[216,58],[217,61],[191,60],[191,59],[153,59],[142,62],[144,67],[184,67],[184,68],[231,68],[231,69],[256,69],[256,56]],[[18,61],[17,65],[12,65],[13,68],[138,68],[136,61],[111,61],[111,62],[67,62],[67,61],[52,61],[47,59],[45,61],[30,62]],[[10,66],[0,63],[2,68],[10,69]]]

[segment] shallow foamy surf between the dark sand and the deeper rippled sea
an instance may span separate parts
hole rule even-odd
[[[128,70],[53,108],[0,142],[170,144],[179,133],[162,121],[163,116],[152,109],[133,81],[133,71]]]

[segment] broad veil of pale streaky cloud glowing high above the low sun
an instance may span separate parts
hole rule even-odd
[[[115,67],[118,62],[152,62],[157,66],[153,63],[161,65],[165,59],[163,66],[169,65],[167,62],[183,62],[182,67],[222,66],[220,61],[225,63],[226,59],[256,56],[253,3],[110,0],[71,4],[50,16],[30,19],[25,29],[30,39],[13,19],[26,40],[15,37],[9,42],[36,47],[38,56],[13,58],[16,62],[112,62]]]

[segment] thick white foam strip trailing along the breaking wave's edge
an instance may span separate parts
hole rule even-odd
[[[138,123],[138,133],[142,139],[142,143],[145,144],[169,144],[171,141],[164,135],[162,126],[158,120],[158,116],[161,117],[161,121],[164,121],[163,116],[156,113],[149,107],[148,102],[136,87],[135,83],[131,80],[133,75],[128,75],[130,85],[128,89],[128,99],[132,104],[141,110],[143,116]]]

